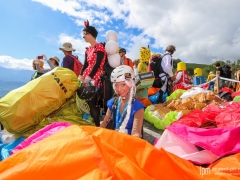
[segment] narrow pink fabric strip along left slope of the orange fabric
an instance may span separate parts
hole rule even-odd
[[[70,123],[67,122],[54,122],[39,131],[35,132],[31,136],[29,136],[27,139],[25,139],[23,142],[21,142],[18,146],[16,146],[11,154],[16,153],[17,151],[30,146],[31,144],[34,144],[38,141],[41,141],[42,139],[45,139],[48,136],[51,136],[55,134],[58,131],[61,131],[62,129],[65,129],[66,127],[70,126]]]

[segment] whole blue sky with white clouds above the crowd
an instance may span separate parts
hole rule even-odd
[[[87,43],[83,21],[95,26],[99,42],[108,30],[118,34],[118,44],[131,59],[141,46],[152,52],[174,44],[174,58],[210,64],[240,59],[240,1],[162,0],[8,0],[0,5],[0,66],[31,69],[39,54],[63,58],[59,47],[66,41],[83,61]]]

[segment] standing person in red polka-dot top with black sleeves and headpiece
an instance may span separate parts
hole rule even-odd
[[[94,86],[100,88],[100,75],[104,74],[104,63],[107,53],[103,44],[96,41],[98,31],[95,27],[89,26],[88,21],[84,21],[83,38],[90,43],[90,47],[86,48],[85,61],[81,69],[79,79],[83,83],[93,82]],[[100,108],[97,106],[97,95],[95,95],[87,103],[90,108],[90,114],[94,119],[95,125],[100,126]]]

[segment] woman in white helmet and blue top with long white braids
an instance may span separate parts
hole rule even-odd
[[[113,118],[113,129],[141,138],[144,105],[135,99],[136,86],[134,80],[135,75],[130,66],[121,65],[113,70],[111,82],[118,98],[112,98],[108,101],[108,110],[101,127],[107,127],[111,118]],[[112,114],[115,117],[112,117]]]

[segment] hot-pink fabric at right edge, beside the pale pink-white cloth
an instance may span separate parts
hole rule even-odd
[[[202,129],[174,124],[168,126],[167,129],[178,137],[209,150],[217,156],[240,152],[240,127]]]

